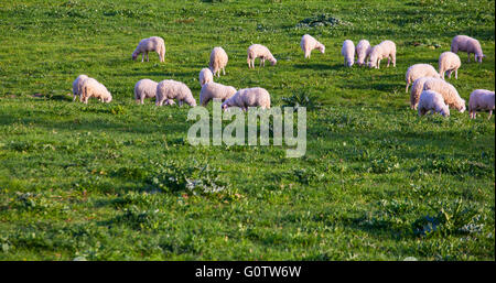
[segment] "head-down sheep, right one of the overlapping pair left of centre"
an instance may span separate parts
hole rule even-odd
[[[155,105],[162,106],[164,101],[169,104],[170,99],[176,99],[180,106],[183,102],[193,107],[196,106],[196,100],[185,84],[173,79],[164,79],[157,85]]]

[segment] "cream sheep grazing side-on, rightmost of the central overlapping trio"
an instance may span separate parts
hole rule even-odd
[[[269,91],[261,87],[239,89],[234,96],[224,101],[222,108],[227,110],[228,107],[237,106],[244,111],[248,107],[260,107],[262,109],[270,109]]]

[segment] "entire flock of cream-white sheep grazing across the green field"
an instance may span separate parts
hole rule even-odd
[[[304,52],[304,57],[310,58],[313,50],[319,50],[325,53],[324,44],[316,41],[313,36],[305,34],[301,39],[300,46]],[[456,55],[459,51],[468,54],[468,62],[471,54],[474,54],[475,61],[482,63],[485,55],[482,52],[481,44],[477,40],[466,35],[456,35],[451,43],[451,52],[444,52],[439,57],[439,70],[435,70],[430,64],[414,64],[410,66],[406,75],[406,91],[411,84],[410,107],[417,109],[419,116],[427,112],[439,112],[444,117],[450,116],[450,107],[464,112],[465,100],[462,99],[453,87],[444,79],[451,78],[451,74],[455,73],[457,79],[457,72],[462,63]],[[141,54],[141,62],[147,57],[149,52],[157,52],[160,62],[164,62],[165,44],[163,39],[152,36],[140,41],[137,48],[132,53],[132,59]],[[379,68],[380,61],[388,58],[388,67],[392,62],[396,67],[396,44],[392,41],[382,41],[380,44],[371,46],[367,40],[362,40],[358,44],[349,40],[343,43],[342,55],[344,57],[344,65],[352,67],[356,63],[358,65],[368,65],[370,68]],[[247,51],[247,63],[249,68],[255,68],[255,59],[260,58],[260,66],[265,66],[266,59],[271,65],[277,64],[277,59],[271,54],[269,48],[260,44],[252,44]],[[270,108],[270,95],[260,87],[245,88],[236,90],[231,86],[224,86],[214,81],[214,76],[220,76],[220,72],[225,75],[225,67],[228,62],[227,53],[223,47],[215,47],[211,53],[211,61],[208,68],[202,68],[200,72],[200,104],[206,106],[212,99],[220,99],[223,101],[222,108],[226,110],[228,107],[239,107],[246,110],[248,107]],[[87,104],[90,97],[98,98],[103,102],[110,102],[112,97],[107,88],[98,83],[96,79],[86,75],[79,75],[73,83],[74,99],[79,96],[82,102]],[[134,99],[143,104],[145,98],[155,98],[155,105],[162,106],[174,105],[176,100],[179,105],[184,102],[190,106],[196,106],[196,100],[193,97],[190,88],[173,79],[165,79],[160,83],[151,79],[141,79],[134,86]],[[476,111],[488,110],[489,118],[495,108],[495,92],[486,89],[476,89],[472,91],[468,101],[470,117],[475,118]],[[488,118],[488,119],[489,119]]]

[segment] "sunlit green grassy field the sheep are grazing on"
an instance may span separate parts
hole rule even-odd
[[[341,21],[298,25],[322,13]],[[438,67],[456,34],[487,57],[460,53],[449,81],[467,101],[494,90],[494,1],[1,1],[0,260],[495,260],[495,118],[419,119],[405,92],[408,66]],[[305,33],[325,54],[303,58]],[[131,61],[152,35],[165,62]],[[397,67],[345,68],[346,39],[395,41]],[[249,70],[252,43],[278,64]],[[181,80],[198,100],[214,46],[229,55],[216,81],[321,105],[303,157],[192,146],[190,107],[134,104],[142,78]],[[72,102],[79,74],[112,102]]]

